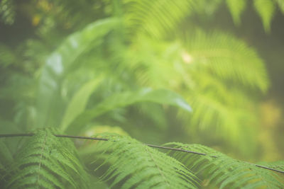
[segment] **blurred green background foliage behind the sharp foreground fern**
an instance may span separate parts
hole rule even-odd
[[[280,159],[270,65],[259,44],[218,27],[221,13],[242,33],[260,17],[273,36],[284,1],[1,1],[0,132],[117,132]]]

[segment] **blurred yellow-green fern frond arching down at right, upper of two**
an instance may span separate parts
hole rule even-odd
[[[187,38],[185,47],[193,64],[227,81],[260,88],[261,91],[268,88],[263,61],[245,42],[219,32],[206,35],[197,31]]]

